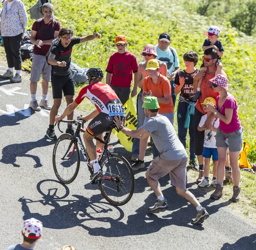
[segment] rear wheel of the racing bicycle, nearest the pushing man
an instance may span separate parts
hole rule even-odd
[[[110,154],[102,159],[102,176],[99,189],[111,204],[122,206],[130,201],[134,193],[134,174],[129,162],[122,156]]]

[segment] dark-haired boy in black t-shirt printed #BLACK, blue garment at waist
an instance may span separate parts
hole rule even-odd
[[[183,59],[186,69],[179,71],[174,80],[175,94],[180,93],[177,106],[178,137],[184,148],[186,148],[186,135],[189,129],[189,167],[198,171],[199,166],[195,161],[194,145],[194,111],[196,100],[193,89],[194,76],[199,71],[195,68],[198,62],[198,55],[195,51],[189,51],[183,56]]]

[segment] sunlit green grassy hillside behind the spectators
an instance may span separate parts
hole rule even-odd
[[[36,0],[23,0],[29,9]],[[224,71],[229,77],[230,92],[239,105],[239,118],[244,127],[244,141],[251,145],[249,159],[256,162],[256,45],[255,37],[248,37],[237,31],[230,22],[207,18],[196,13],[189,13],[176,1],[166,0],[52,0],[55,6],[55,18],[61,26],[70,27],[76,36],[85,36],[92,32],[102,34],[100,40],[74,46],[72,60],[81,67],[98,66],[105,71],[108,58],[116,52],[113,43],[118,34],[128,38],[128,50],[142,61],[140,52],[146,43],[157,43],[161,32],[169,32],[172,46],[177,50],[181,68],[184,68],[183,54],[189,50],[203,55],[201,46],[206,36],[203,35],[210,25],[221,29],[220,40],[224,44]],[[216,22],[216,20],[219,20]],[[28,28],[34,20],[29,19]],[[200,63],[198,63],[199,67]],[[76,88],[76,95],[82,86]],[[84,100],[79,106],[81,113],[88,114],[94,107]],[[175,115],[175,124],[176,115]],[[175,128],[177,130],[177,127]],[[189,171],[191,178],[195,173]],[[231,205],[243,211],[248,217],[256,213],[256,175],[242,172],[241,202]],[[225,187],[224,199],[230,198],[232,185]],[[226,195],[227,194],[227,195]],[[254,213],[254,215],[253,215]],[[254,216],[255,217],[255,216]]]

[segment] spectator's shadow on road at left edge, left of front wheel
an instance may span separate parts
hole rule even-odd
[[[41,164],[40,158],[37,155],[32,155],[28,152],[34,148],[47,147],[52,144],[55,144],[55,141],[45,140],[45,138],[41,138],[38,141],[10,144],[3,148],[2,159],[0,162],[4,164],[12,164],[13,167],[20,167],[20,165],[15,163],[17,157],[30,157],[35,161],[34,167],[42,167],[43,165]]]

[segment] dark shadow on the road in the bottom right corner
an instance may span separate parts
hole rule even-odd
[[[245,236],[236,241],[234,244],[225,243],[221,250],[248,250],[256,249],[256,233]]]

